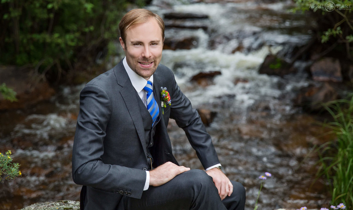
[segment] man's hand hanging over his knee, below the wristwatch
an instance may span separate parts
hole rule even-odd
[[[212,168],[206,173],[213,178],[213,183],[215,183],[218,194],[221,199],[225,199],[227,196],[231,196],[233,192],[233,185],[228,177],[218,168]]]

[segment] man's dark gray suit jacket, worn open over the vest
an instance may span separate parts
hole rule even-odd
[[[151,148],[154,166],[167,161],[178,164],[167,134],[169,117],[184,129],[204,168],[219,163],[210,135],[172,71],[158,65],[153,85],[158,99],[160,88],[166,87],[172,100],[163,115],[160,107],[161,119]],[[124,209],[124,196],[142,195],[148,163],[138,100],[122,61],[92,79],[80,93],[72,177],[76,184],[84,185],[81,202],[85,210]]]

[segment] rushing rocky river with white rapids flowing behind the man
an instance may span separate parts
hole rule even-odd
[[[161,63],[173,70],[194,108],[215,113],[207,131],[223,171],[246,187],[247,210],[254,208],[258,177],[264,172],[272,177],[264,182],[258,209],[318,208],[330,199],[323,180],[312,185],[317,158],[310,151],[327,141],[318,137],[325,130],[315,116],[293,106],[300,88],[314,83],[300,68],[305,63],[295,63],[299,71],[283,78],[258,73],[269,53],[290,58],[295,47],[310,39],[310,20],[288,12],[291,4],[154,0],[147,7],[164,17],[166,41],[184,44],[185,49],[163,50]],[[112,58],[110,66],[121,58]],[[190,81],[209,71],[221,74]],[[0,113],[0,151],[11,149],[23,173],[0,184],[0,209],[79,199],[80,186],[71,177],[71,152],[83,86],[63,86],[49,101]],[[168,130],[179,164],[202,168],[183,130],[174,121]]]

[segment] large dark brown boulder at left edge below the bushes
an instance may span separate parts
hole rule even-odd
[[[19,70],[14,66],[0,66],[0,84],[5,83],[16,93],[17,102],[5,100],[0,94],[0,111],[10,109],[24,109],[39,101],[48,100],[55,94],[46,81],[35,81],[33,71]]]

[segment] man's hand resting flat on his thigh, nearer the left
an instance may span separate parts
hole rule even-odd
[[[177,166],[172,162],[167,162],[150,171],[150,185],[160,186],[169,182],[178,174],[189,170],[190,168],[186,168],[184,166]]]

